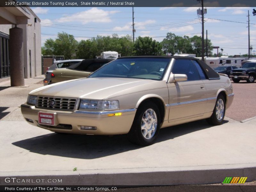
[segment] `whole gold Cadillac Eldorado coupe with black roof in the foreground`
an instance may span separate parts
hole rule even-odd
[[[222,124],[233,101],[228,76],[191,57],[118,58],[88,78],[31,91],[21,111],[53,132],[127,134],[152,144],[159,129],[199,119]]]

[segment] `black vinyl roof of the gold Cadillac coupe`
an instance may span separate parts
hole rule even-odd
[[[117,59],[131,59],[131,58],[166,58],[175,60],[195,60],[204,70],[204,74],[207,79],[219,79],[220,75],[216,73],[209,65],[204,63],[202,60],[196,59],[194,57],[184,57],[184,56],[129,56],[129,57],[119,57]]]

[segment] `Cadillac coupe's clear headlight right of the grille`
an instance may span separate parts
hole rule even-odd
[[[84,100],[80,102],[79,109],[119,109],[119,102],[117,100],[113,101],[102,101],[102,100]]]

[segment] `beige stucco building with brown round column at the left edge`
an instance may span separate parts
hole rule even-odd
[[[0,7],[0,67],[12,86],[42,74],[40,19],[30,7]]]

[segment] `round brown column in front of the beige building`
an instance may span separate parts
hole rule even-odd
[[[10,29],[9,55],[11,86],[24,86],[23,31],[21,28]]]

